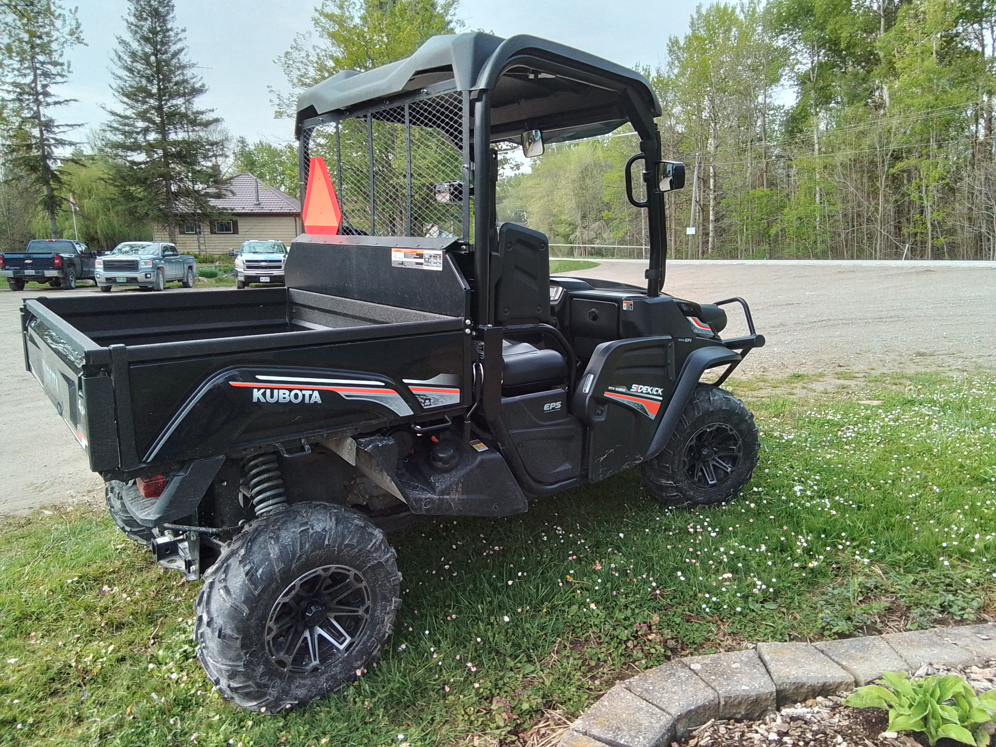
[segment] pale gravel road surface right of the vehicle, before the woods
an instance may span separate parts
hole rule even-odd
[[[644,286],[644,267],[570,274]],[[768,345],[743,373],[996,369],[996,263],[672,261],[665,290],[748,301]],[[732,334],[744,329],[731,321]]]

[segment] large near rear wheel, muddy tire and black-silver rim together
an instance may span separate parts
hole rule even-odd
[[[243,708],[275,713],[355,680],[400,607],[394,551],[352,509],[296,503],[249,524],[204,575],[197,656]]]

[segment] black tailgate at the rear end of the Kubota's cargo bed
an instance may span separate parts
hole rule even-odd
[[[37,301],[21,312],[28,371],[87,452],[95,472],[119,465],[114,385],[106,348],[80,334]]]

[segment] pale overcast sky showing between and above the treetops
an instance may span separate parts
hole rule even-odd
[[[308,31],[315,0],[175,1],[190,57],[208,87],[204,105],[233,135],[289,140],[292,124],[273,119],[267,87],[287,89],[274,60],[296,34]],[[467,29],[501,37],[533,34],[631,67],[663,62],[668,36],[684,33],[694,6],[692,0],[461,0],[458,13]],[[80,4],[88,46],[70,55],[73,75],[64,93],[79,102],[60,115],[63,122],[100,124],[102,105],[113,106],[108,68],[126,10],[126,0]]]

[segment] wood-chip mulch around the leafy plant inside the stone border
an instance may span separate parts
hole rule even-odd
[[[996,689],[996,661],[964,669],[923,666],[914,678],[961,674],[976,692]],[[883,734],[888,716],[879,708],[852,708],[841,697],[818,697],[787,705],[759,721],[710,721],[671,747],[922,747],[922,735]],[[947,741],[947,740],[942,740]],[[939,743],[938,743],[939,745]]]

